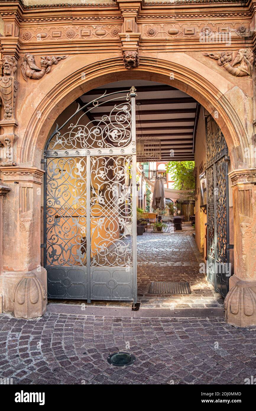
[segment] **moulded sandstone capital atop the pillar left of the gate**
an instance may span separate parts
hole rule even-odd
[[[44,170],[36,167],[5,166],[0,167],[3,181],[7,182],[34,182],[42,184]]]

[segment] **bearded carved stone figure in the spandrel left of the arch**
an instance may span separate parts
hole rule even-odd
[[[66,55],[54,57],[46,55],[42,57],[40,62],[41,68],[37,67],[35,64],[35,58],[32,54],[26,53],[21,60],[21,72],[25,81],[29,79],[39,80],[42,79],[44,74],[51,71],[51,66],[53,64],[58,64],[60,60],[67,58]]]

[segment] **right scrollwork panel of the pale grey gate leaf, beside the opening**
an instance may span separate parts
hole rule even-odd
[[[90,160],[91,298],[130,300],[132,155],[93,156]]]

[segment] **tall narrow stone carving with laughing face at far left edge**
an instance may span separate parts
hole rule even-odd
[[[4,55],[2,59],[3,75],[0,77],[0,97],[4,106],[4,116],[0,126],[4,133],[0,135],[0,165],[15,166],[13,147],[17,138],[15,128],[18,122],[15,118],[15,104],[18,92],[18,81],[15,73],[17,60],[12,55]]]

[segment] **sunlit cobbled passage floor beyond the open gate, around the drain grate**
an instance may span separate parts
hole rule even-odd
[[[202,272],[200,264],[205,261],[192,233],[191,223],[183,223],[182,231],[173,231],[173,224],[169,223],[164,233],[148,229],[143,236],[137,236],[138,301],[141,307],[223,307],[224,299],[214,291]],[[152,296],[148,294],[151,281],[187,281],[191,294]]]

